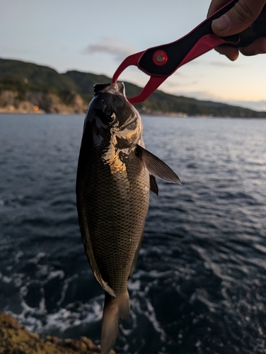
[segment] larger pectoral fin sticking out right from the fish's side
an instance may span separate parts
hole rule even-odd
[[[146,169],[152,176],[159,177],[166,182],[181,184],[178,175],[157,156],[151,154],[151,152],[140,147],[138,144],[136,147],[136,153],[144,161]]]

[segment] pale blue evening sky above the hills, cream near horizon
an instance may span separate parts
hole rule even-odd
[[[112,77],[125,57],[173,42],[207,16],[210,0],[0,0],[0,57]],[[144,86],[129,67],[120,80]],[[214,50],[180,67],[160,89],[266,110],[266,55],[236,62]]]

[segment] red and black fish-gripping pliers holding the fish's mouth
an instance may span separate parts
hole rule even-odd
[[[212,21],[230,10],[237,0],[232,0],[216,13],[200,23],[194,30],[175,42],[158,47],[152,47],[143,52],[129,55],[117,68],[112,82],[117,82],[120,74],[134,65],[150,77],[144,89],[138,96],[127,98],[132,104],[143,102],[154,93],[156,89],[182,65],[199,57],[219,45],[232,45],[245,47],[253,42],[258,36],[244,38],[241,34],[230,37],[219,37],[212,32]]]

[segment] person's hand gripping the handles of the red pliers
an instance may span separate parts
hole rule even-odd
[[[212,0],[207,17],[219,10],[229,0]],[[260,36],[250,45],[241,48],[220,46],[215,50],[234,61],[239,52],[243,55],[266,53],[266,0],[238,0],[238,2],[220,18],[212,22],[212,30],[216,35],[225,37],[242,33],[247,36]]]

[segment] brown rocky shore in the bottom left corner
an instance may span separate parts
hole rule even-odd
[[[10,314],[0,312],[0,354],[98,354],[100,346],[86,338],[40,338],[21,326]],[[115,354],[113,350],[110,354]]]

